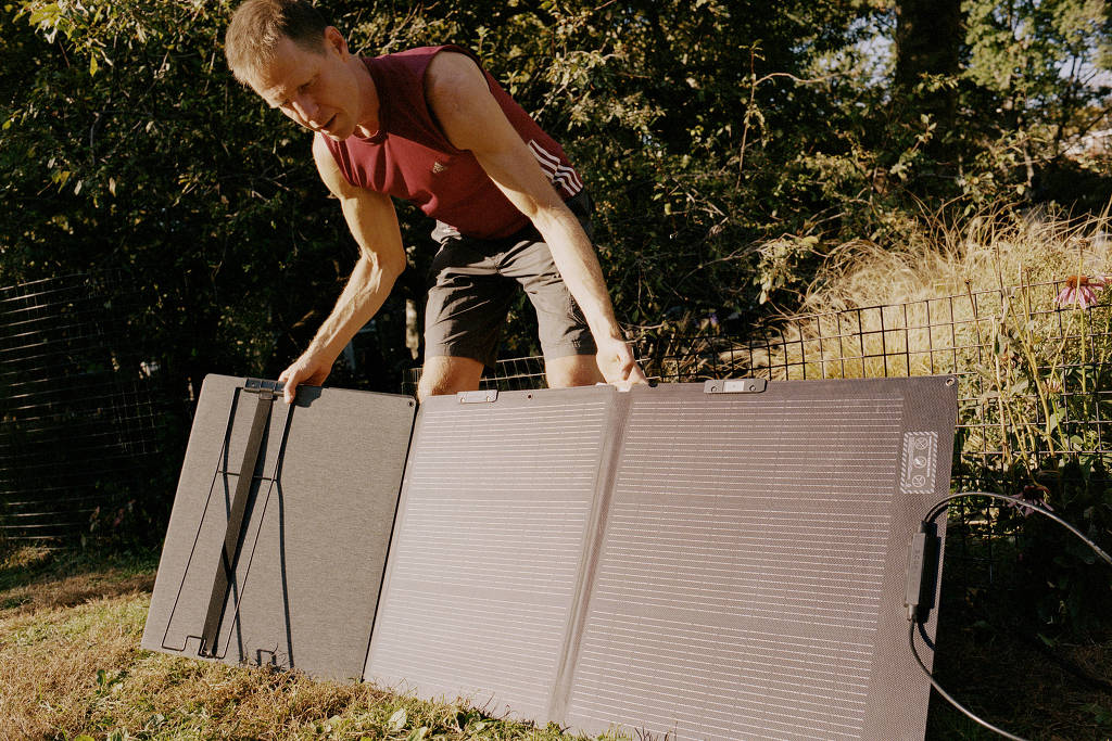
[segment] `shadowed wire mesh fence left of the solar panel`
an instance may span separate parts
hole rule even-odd
[[[0,289],[0,540],[110,528],[142,495],[161,421],[136,296],[110,272]]]

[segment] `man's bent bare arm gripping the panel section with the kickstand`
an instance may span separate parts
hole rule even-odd
[[[336,358],[375,316],[406,268],[390,197],[347,182],[320,136],[314,138],[312,158],[320,179],[340,201],[348,229],[359,246],[359,260],[308,349],[278,377],[286,384],[287,403],[292,403],[299,383],[319,385],[328,378]]]

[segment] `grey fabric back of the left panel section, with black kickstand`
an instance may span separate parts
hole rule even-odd
[[[244,385],[205,380],[143,648],[198,655],[254,411]],[[361,675],[414,413],[408,397],[339,389],[274,402],[217,658]]]

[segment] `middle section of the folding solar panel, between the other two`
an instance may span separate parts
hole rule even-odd
[[[548,715],[616,393],[421,404],[367,680]]]

